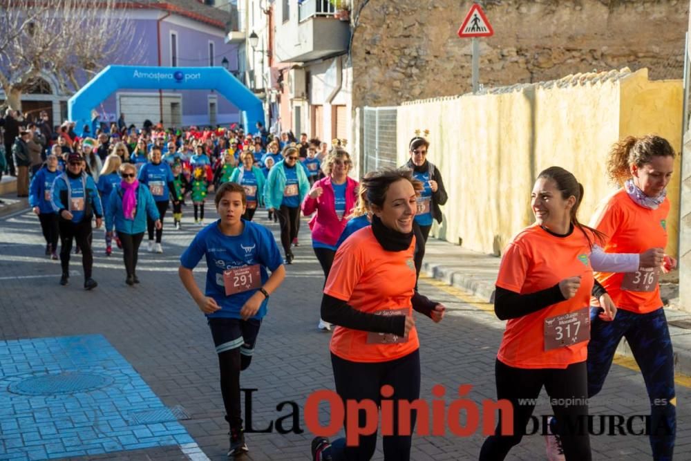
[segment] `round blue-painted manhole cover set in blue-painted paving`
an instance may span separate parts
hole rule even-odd
[[[93,391],[110,386],[115,380],[106,375],[68,371],[53,375],[32,376],[8,386],[8,390],[23,395],[71,394]]]

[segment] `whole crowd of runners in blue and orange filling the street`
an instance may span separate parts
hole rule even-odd
[[[22,128],[19,142],[31,134]],[[418,350],[425,338],[418,336],[413,310],[433,322],[442,321],[445,312],[417,290],[430,229],[442,222],[447,201],[443,169],[428,160],[428,150],[433,153],[426,133],[416,133],[406,164],[367,172],[357,181],[345,140],[326,144],[305,133],[299,140],[292,133],[274,137],[261,124],[254,133],[238,126],[186,131],[113,126],[94,138],[65,130],[46,146],[28,194],[46,256],[60,260],[59,283],[69,283],[74,242],[86,290],[97,286],[94,221],[95,227],[104,226],[97,238],[104,238],[106,255],[113,254],[113,243],[122,248],[125,283],[135,285],[145,234],[147,250],[162,253],[164,229],[180,229],[183,215],[193,212],[200,227],[180,257],[179,274],[209,321],[233,456],[248,451],[240,372],[252,361],[269,297],[295,258],[301,216],[311,216],[312,247],[324,273],[323,287],[315,287],[323,298],[314,321],[320,330],[333,329],[337,393],[344,402],[380,402],[385,394],[394,402],[419,398]],[[589,225],[578,219],[585,191],[572,173],[550,167],[538,175],[530,203],[535,222],[502,253],[496,282],[495,312],[507,320],[495,364],[496,391],[498,399],[513,405],[514,431],[502,432],[500,415],[480,460],[503,460],[520,443],[534,408],[525,402],[543,387],[556,401],[582,402],[553,405],[548,458],[590,460],[583,426],[587,398],[602,388],[623,337],[645,378],[653,458],[672,460],[674,359],[658,279],[676,266],[663,250],[674,156],[656,135],[614,145],[607,170],[621,189],[603,198]],[[216,216],[205,224],[207,196],[214,197]],[[171,205],[173,220],[166,222]],[[263,219],[280,225],[280,249],[269,229],[256,223],[261,209]],[[203,290],[192,275],[202,258]],[[408,460],[412,438],[399,433],[397,410],[395,415],[394,435],[383,438],[384,457]],[[348,446],[345,438],[318,437],[312,456],[368,460],[376,443],[376,432],[357,446]]]

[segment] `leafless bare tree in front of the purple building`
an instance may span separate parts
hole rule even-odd
[[[141,59],[142,38],[122,4],[0,0],[0,85],[6,104],[21,110],[21,94],[41,74],[55,77],[61,92],[73,93],[80,77],[95,75],[115,59],[119,64]]]

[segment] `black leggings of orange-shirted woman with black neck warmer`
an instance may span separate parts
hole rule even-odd
[[[411,352],[405,357],[391,361],[376,363],[361,363],[341,359],[331,355],[331,365],[334,369],[336,392],[343,399],[343,404],[349,399],[370,399],[380,405],[381,386],[389,384],[394,393],[389,399],[393,401],[412,401],[420,397],[420,354],[419,350]],[[358,379],[353,379],[357,376]],[[394,403],[393,432],[398,429],[398,404]],[[359,412],[359,426],[365,426],[365,412]],[[415,430],[416,411],[410,411],[410,433]],[[348,424],[343,422],[347,428]],[[346,431],[347,434],[347,431]],[[412,435],[384,435],[384,459],[407,461],[410,460],[410,446]],[[331,444],[330,453],[333,461],[369,460],[375,453],[377,446],[377,432],[371,435],[361,435],[357,446],[346,446],[346,440],[341,438]]]

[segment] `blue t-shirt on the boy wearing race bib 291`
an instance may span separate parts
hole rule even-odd
[[[194,269],[202,256],[207,259],[207,285],[205,295],[213,298],[220,310],[213,314],[206,314],[209,318],[229,317],[240,319],[240,310],[245,302],[258,291],[258,288],[226,296],[223,272],[239,267],[259,265],[261,283],[264,285],[269,279],[267,268],[274,272],[283,264],[281,253],[274,235],[262,225],[242,220],[245,229],[238,236],[227,236],[220,232],[220,219],[209,224],[193,239],[187,250],[180,256],[180,265],[187,269]],[[268,299],[261,304],[254,319],[262,319],[266,315]]]

